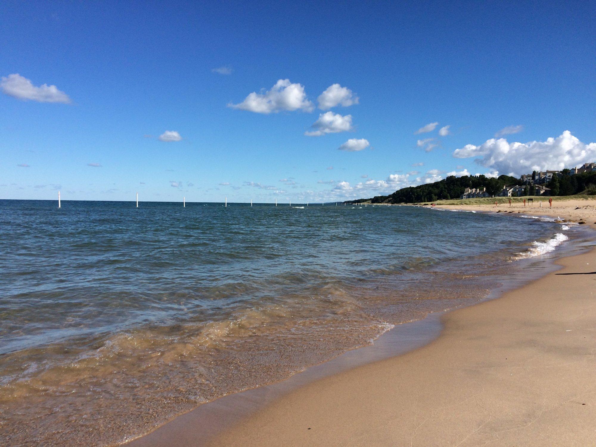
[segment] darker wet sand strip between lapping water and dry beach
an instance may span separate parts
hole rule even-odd
[[[514,216],[519,217],[519,215]],[[550,218],[550,216],[545,217]],[[590,234],[594,235],[596,232],[591,229]],[[468,306],[479,305],[488,300],[498,299],[509,291],[516,290],[558,271],[561,266],[558,265],[557,260],[577,256],[588,252],[593,247],[594,243],[585,239],[567,241],[564,247],[560,247],[553,253],[554,256],[542,260],[544,269],[529,270],[530,275],[520,273],[513,281],[501,283],[500,287],[491,290],[488,296],[481,300],[443,311],[429,312],[421,319],[397,324],[377,337],[372,344],[354,347],[319,364],[308,366],[303,371],[297,371],[281,381],[263,384],[202,403],[194,409],[154,427],[151,432],[132,437],[120,445],[135,447],[169,446],[173,442],[185,442],[187,445],[205,445],[213,436],[299,387],[330,375],[400,356],[426,346],[440,337],[443,328],[442,317],[446,313],[467,308]],[[511,277],[507,279],[511,280]]]

